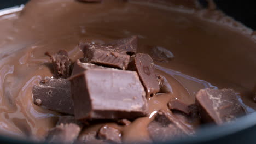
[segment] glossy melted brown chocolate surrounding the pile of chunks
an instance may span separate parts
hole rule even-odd
[[[74,62],[83,57],[79,41],[104,44],[131,35],[138,35],[138,53],[154,58],[156,73],[167,79],[172,91],[148,98],[148,117],[127,126],[93,124],[82,134],[108,124],[121,131],[123,142],[150,142],[147,125],[153,115],[168,110],[171,99],[193,104],[195,93],[203,88],[232,88],[241,96],[238,99],[246,112],[254,112],[251,92],[256,80],[256,42],[252,30],[219,11],[169,4],[33,0],[19,13],[1,16],[1,133],[40,140],[61,116],[33,104],[32,87],[45,76],[53,76],[46,51],[65,49]],[[155,57],[157,47],[167,49],[174,58],[170,52]]]

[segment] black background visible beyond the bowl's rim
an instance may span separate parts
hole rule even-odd
[[[0,9],[13,7],[26,3],[28,0],[1,0]],[[199,0],[207,5],[206,0]],[[237,21],[246,26],[256,29],[256,1],[255,0],[214,0],[217,7]]]

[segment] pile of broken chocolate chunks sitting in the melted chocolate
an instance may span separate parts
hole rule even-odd
[[[83,128],[99,121],[126,127],[136,118],[148,117],[148,101],[170,93],[165,77],[156,74],[148,54],[137,53],[136,35],[107,44],[79,43],[84,57],[71,62],[60,50],[50,56],[53,77],[45,77],[32,89],[34,104],[62,113],[46,141],[62,143],[122,143],[122,132],[110,125],[80,135]],[[168,104],[167,104],[168,103]],[[245,113],[232,89],[201,89],[195,104],[166,101],[147,126],[153,141],[195,135],[184,121],[217,125]],[[139,131],[138,131],[139,133]],[[79,137],[79,139],[78,139]]]

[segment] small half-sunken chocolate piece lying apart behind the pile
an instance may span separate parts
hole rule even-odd
[[[160,46],[152,47],[151,53],[152,58],[156,61],[168,62],[174,58],[174,55],[171,51]]]

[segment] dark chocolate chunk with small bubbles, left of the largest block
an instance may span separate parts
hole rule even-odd
[[[39,86],[33,87],[32,93],[34,104],[60,113],[74,114],[70,82],[67,79],[45,77]]]

